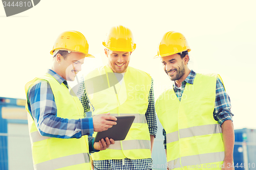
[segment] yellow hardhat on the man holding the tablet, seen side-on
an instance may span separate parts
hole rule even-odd
[[[88,54],[89,44],[86,37],[78,31],[66,31],[61,33],[56,39],[51,55],[55,55],[59,50],[83,53],[86,57],[95,58],[93,55]]]

